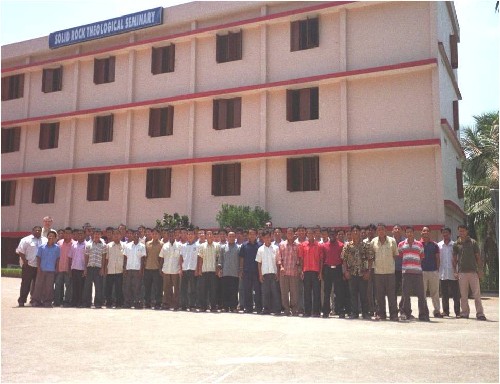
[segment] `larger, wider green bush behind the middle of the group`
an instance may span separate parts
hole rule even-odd
[[[215,220],[220,228],[262,228],[271,221],[271,215],[260,207],[252,209],[249,206],[222,204]]]

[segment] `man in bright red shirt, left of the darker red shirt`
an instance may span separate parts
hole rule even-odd
[[[321,266],[324,248],[314,235],[314,229],[307,230],[307,241],[299,245],[299,269],[304,280],[304,317],[320,316]],[[311,308],[312,307],[312,308]]]

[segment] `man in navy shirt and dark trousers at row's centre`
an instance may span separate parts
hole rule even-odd
[[[259,269],[255,257],[262,244],[257,241],[257,231],[248,230],[248,241],[240,248],[240,278],[243,278],[243,291],[245,297],[245,313],[262,312],[262,291],[259,281]],[[255,292],[255,297],[252,295]]]

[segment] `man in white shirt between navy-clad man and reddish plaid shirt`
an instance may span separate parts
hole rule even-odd
[[[279,316],[281,314],[281,298],[278,288],[278,246],[271,244],[271,232],[265,230],[262,234],[264,244],[257,250],[255,261],[259,268],[259,280],[262,284],[263,314]]]

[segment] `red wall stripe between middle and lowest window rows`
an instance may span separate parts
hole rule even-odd
[[[393,142],[384,142],[384,143],[370,143],[370,144],[359,144],[359,145],[340,145],[340,146],[332,146],[332,147],[317,147],[317,148],[306,148],[306,149],[290,149],[290,150],[285,150],[285,151],[245,153],[245,154],[240,154],[240,155],[197,157],[197,158],[186,158],[186,159],[178,159],[178,160],[154,161],[154,162],[148,162],[148,163],[119,164],[119,165],[108,165],[108,166],[100,166],[100,167],[84,167],[84,168],[58,169],[58,170],[40,171],[40,172],[11,173],[11,174],[2,174],[2,180],[12,180],[12,179],[29,178],[29,177],[42,177],[42,176],[57,176],[57,175],[77,174],[77,173],[91,173],[91,172],[106,172],[106,171],[128,170],[128,169],[153,168],[153,167],[171,167],[171,166],[176,166],[176,165],[222,163],[222,162],[229,162],[229,161],[235,161],[235,160],[265,159],[265,158],[283,157],[283,156],[291,157],[291,156],[311,155],[311,154],[319,154],[319,153],[356,152],[356,151],[366,151],[366,150],[373,150],[373,149],[421,147],[421,146],[433,146],[433,145],[440,145],[440,144],[441,144],[440,139],[426,139],[426,140],[410,140],[410,141],[393,141]]]

